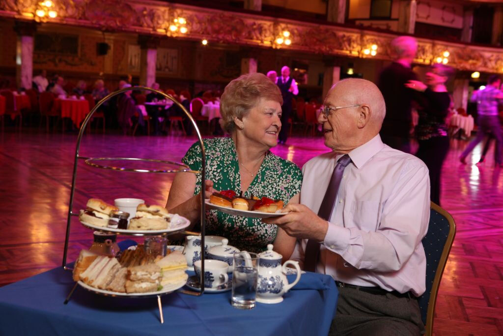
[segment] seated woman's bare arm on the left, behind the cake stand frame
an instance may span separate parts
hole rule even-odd
[[[167,196],[166,209],[173,214],[179,214],[191,222],[189,230],[198,222],[201,213],[201,194],[194,195],[196,175],[193,173],[177,173]],[[205,197],[213,193],[213,182],[206,180]]]

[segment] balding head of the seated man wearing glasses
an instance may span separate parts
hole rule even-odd
[[[381,129],[386,105],[374,83],[363,79],[346,79],[328,91],[321,113],[325,145],[337,153],[349,153],[374,138]],[[342,107],[340,109],[335,109]]]

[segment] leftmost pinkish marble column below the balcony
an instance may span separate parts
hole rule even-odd
[[[16,45],[16,84],[18,88],[31,89],[33,76],[33,36],[37,31],[35,22],[16,21],[18,34]]]

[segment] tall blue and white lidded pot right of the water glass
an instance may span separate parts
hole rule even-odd
[[[287,260],[281,265],[283,256],[273,251],[273,245],[267,245],[267,251],[259,254],[259,280],[257,284],[257,302],[280,303],[283,294],[288,292],[300,280],[298,261]],[[297,270],[297,278],[291,284],[286,278],[287,265],[293,265]]]

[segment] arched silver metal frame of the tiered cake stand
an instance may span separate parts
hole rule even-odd
[[[177,106],[179,106],[182,109],[182,111],[184,111],[184,113],[186,114],[186,116],[191,121],[194,129],[196,130],[197,137],[198,137],[198,140],[199,140],[199,146],[201,147],[201,164],[202,164],[201,171],[191,170],[189,166],[187,166],[185,164],[182,164],[182,163],[176,163],[176,162],[164,161],[164,160],[144,159],[144,158],[143,159],[140,159],[140,158],[100,158],[100,157],[92,158],[92,157],[83,157],[83,156],[79,155],[80,141],[82,140],[82,136],[84,134],[84,131],[86,130],[87,125],[88,125],[89,121],[91,120],[91,118],[93,117],[94,113],[98,110],[98,108],[100,108],[101,105],[103,105],[103,103],[105,103],[110,98],[112,98],[114,96],[117,96],[117,95],[119,95],[119,94],[121,94],[123,92],[131,91],[131,90],[142,90],[142,91],[155,92],[155,93],[157,93],[159,95],[162,95],[166,99],[169,99],[169,100],[173,101],[174,104],[176,104]],[[138,173],[178,173],[178,172],[191,172],[191,173],[199,173],[199,174],[201,174],[202,181],[205,180],[205,176],[206,176],[206,174],[205,174],[205,172],[206,172],[205,171],[206,157],[205,157],[204,144],[203,144],[203,139],[201,137],[201,132],[199,131],[199,128],[197,127],[196,121],[192,118],[192,114],[189,111],[187,111],[185,109],[185,107],[182,104],[180,104],[174,97],[172,97],[171,95],[167,95],[167,94],[165,94],[162,91],[154,90],[152,88],[143,87],[143,86],[135,86],[135,87],[129,87],[129,88],[124,88],[124,89],[117,90],[115,92],[112,92],[111,94],[109,94],[108,96],[106,96],[105,98],[103,98],[102,100],[100,100],[98,102],[98,104],[96,104],[96,106],[89,112],[89,114],[87,115],[86,119],[84,119],[84,121],[80,125],[80,131],[78,132],[77,144],[76,144],[76,148],[75,148],[75,161],[74,161],[74,164],[73,164],[73,175],[72,175],[72,181],[71,181],[70,202],[69,202],[69,206],[68,206],[68,218],[67,218],[67,222],[66,222],[66,236],[65,236],[65,242],[64,242],[63,263],[62,263],[62,266],[63,266],[64,270],[70,270],[70,271],[72,270],[72,268],[68,267],[68,265],[66,263],[66,257],[67,257],[67,254],[68,254],[68,243],[69,243],[69,238],[70,238],[71,218],[72,218],[72,216],[77,216],[78,217],[78,213],[72,211],[72,209],[73,209],[73,196],[75,194],[75,183],[76,183],[76,177],[77,177],[77,164],[78,164],[78,160],[83,160],[85,164],[87,164],[89,166],[92,166],[92,167],[101,168],[101,169],[110,169],[110,170],[117,170],[117,171],[129,171],[129,172],[138,172]],[[116,167],[116,166],[112,166],[112,165],[105,165],[104,162],[106,162],[106,161],[126,161],[126,162],[143,161],[143,162],[153,162],[153,163],[159,163],[159,164],[169,164],[169,165],[177,166],[179,168],[178,169],[149,169],[149,170],[147,170],[147,169],[123,168],[123,167]],[[106,227],[103,227],[103,228],[94,228],[93,227],[92,228],[92,227],[90,227],[88,225],[85,225],[84,223],[82,223],[82,224],[84,226],[92,229],[92,230],[98,230],[98,231],[102,231],[102,232],[114,233],[114,234],[122,234],[122,235],[133,235],[133,236],[146,236],[146,235],[164,235],[164,236],[167,236],[167,235],[172,235],[172,234],[199,235],[199,233],[185,231],[184,228],[187,227],[187,225],[186,226],[182,225],[182,228],[179,229],[179,230],[177,230],[175,228],[174,230],[165,230],[164,232],[159,233],[159,232],[145,232],[145,231],[139,232],[139,231],[130,231],[130,230],[115,230],[115,229],[110,229],[110,228],[106,228]],[[205,237],[205,202],[204,202],[204,192],[202,192],[201,193],[201,260],[202,260],[202,263],[201,263],[201,279],[200,279],[200,283],[201,284],[204,284],[204,246],[205,246],[204,237]],[[92,291],[94,293],[101,294],[101,295],[106,295],[106,296],[126,296],[126,297],[141,297],[141,298],[145,298],[145,297],[157,297],[157,303],[158,303],[158,306],[159,306],[159,315],[160,315],[160,322],[161,323],[163,323],[164,319],[163,319],[163,316],[162,316],[162,307],[161,307],[160,297],[161,297],[161,295],[173,293],[175,291],[175,290],[170,291],[168,289],[167,291],[163,291],[162,293],[158,293],[157,292],[157,293],[152,293],[152,294],[146,293],[146,294],[141,294],[141,295],[135,295],[135,294],[117,295],[117,294],[114,294],[114,293],[108,293],[107,291],[102,291],[102,290],[99,290],[99,289],[95,289],[95,288],[87,286],[87,285],[85,285],[85,284],[83,284],[81,282],[77,282],[77,283],[75,283],[75,286],[72,288],[72,290],[70,291],[70,293],[66,297],[66,300],[64,301],[65,304],[68,303],[68,301],[69,301],[71,295],[73,294],[75,288],[77,287],[77,285],[80,285],[83,288],[85,288],[85,289],[87,289],[89,291]],[[200,289],[199,292],[188,291],[188,290],[180,290],[180,291],[183,292],[183,293],[186,293],[186,294],[199,296],[199,295],[202,295],[204,293],[204,286],[201,286],[201,289]]]

